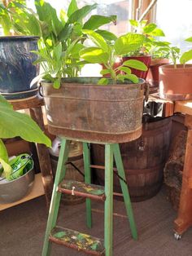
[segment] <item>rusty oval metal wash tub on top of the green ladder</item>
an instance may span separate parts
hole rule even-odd
[[[64,78],[61,87],[41,82],[48,130],[86,141],[121,143],[142,134],[144,80],[100,86],[99,77]]]

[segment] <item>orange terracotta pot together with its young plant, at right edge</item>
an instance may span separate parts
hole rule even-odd
[[[186,39],[192,42],[191,38]],[[159,67],[159,96],[162,99],[188,100],[192,99],[192,50],[184,52],[180,57],[180,49],[168,46],[173,64]],[[180,59],[179,59],[180,58]],[[177,64],[177,60],[180,64]]]

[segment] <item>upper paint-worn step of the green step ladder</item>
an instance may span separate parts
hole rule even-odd
[[[106,199],[102,186],[81,183],[75,180],[63,180],[59,183],[58,191],[72,196],[82,196],[95,200],[105,201]]]

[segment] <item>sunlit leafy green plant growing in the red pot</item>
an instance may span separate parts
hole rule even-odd
[[[137,51],[131,52],[129,55],[147,55],[151,54],[152,48],[158,47],[159,41],[156,37],[164,37],[164,31],[159,29],[155,23],[147,23],[147,20],[137,21],[129,20],[134,33],[143,35],[143,41]],[[159,49],[160,51],[161,49]]]

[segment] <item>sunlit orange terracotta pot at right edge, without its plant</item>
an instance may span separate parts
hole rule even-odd
[[[159,97],[161,99],[192,99],[192,64],[159,67]]]

